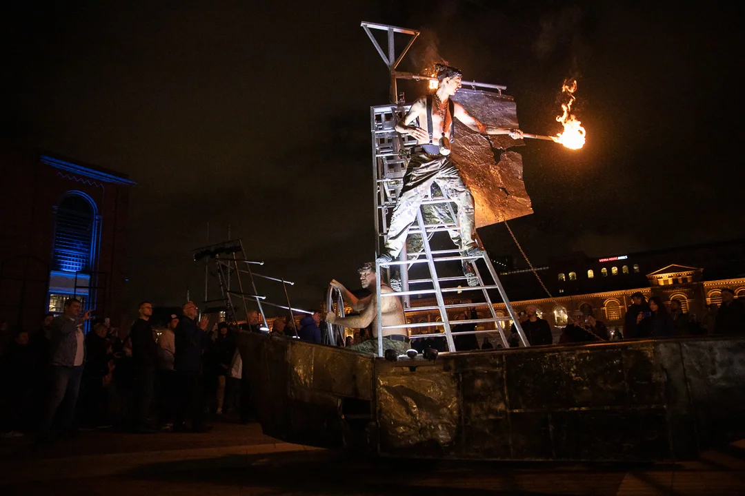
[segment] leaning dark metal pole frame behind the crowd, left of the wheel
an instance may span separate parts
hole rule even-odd
[[[235,257],[235,254],[241,254],[241,258]],[[225,256],[226,258],[223,258]],[[294,308],[290,303],[290,296],[287,291],[287,285],[294,286],[294,282],[285,280],[280,277],[270,277],[263,274],[257,274],[251,270],[251,265],[264,265],[264,262],[258,260],[249,260],[246,257],[246,251],[243,248],[243,241],[241,239],[229,239],[228,241],[217,243],[215,245],[207,245],[201,248],[194,249],[194,260],[198,261],[202,258],[207,257],[212,260],[215,268],[215,274],[218,277],[218,283],[220,284],[220,290],[222,294],[221,300],[204,300],[203,303],[212,303],[215,301],[222,301],[225,304],[226,319],[232,322],[238,322],[238,310],[233,302],[233,298],[237,297],[242,303],[245,318],[248,318],[248,306],[247,302],[256,303],[259,309],[259,315],[261,315],[261,322],[263,323],[262,330],[269,330],[269,321],[267,321],[266,315],[264,314],[264,306],[273,306],[279,309],[285,309],[293,315],[293,312],[303,313],[310,315],[312,312],[308,310]],[[231,274],[235,274],[235,280],[238,283],[238,291],[230,289],[229,283],[231,280]],[[248,274],[250,289],[253,293],[244,291],[244,284],[241,280],[241,274]],[[282,289],[285,292],[285,300],[287,306],[279,305],[277,303],[271,303],[266,300],[266,296],[259,294],[256,289],[256,277],[264,280],[271,280],[278,283],[282,283]],[[297,337],[297,326],[294,326],[295,336]]]

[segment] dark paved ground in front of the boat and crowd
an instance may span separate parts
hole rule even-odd
[[[736,495],[745,442],[644,465],[391,460],[281,442],[258,424],[209,434],[81,432],[0,445],[0,495]]]

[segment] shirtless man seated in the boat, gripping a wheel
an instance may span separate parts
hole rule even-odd
[[[326,322],[350,327],[352,329],[364,329],[372,323],[373,336],[375,337],[360,344],[355,344],[355,346],[352,346],[349,349],[370,352],[377,355],[378,308],[376,303],[377,298],[375,297],[375,278],[378,277],[378,274],[375,274],[375,264],[370,262],[364,263],[361,268],[358,269],[358,272],[360,273],[360,284],[364,289],[370,291],[370,296],[364,298],[355,297],[354,294],[349,292],[349,290],[337,280],[332,280],[331,285],[341,292],[344,300],[349,302],[352,309],[360,312],[360,315],[352,315],[342,318],[334,312],[327,312]],[[393,293],[393,289],[390,289],[390,286],[385,284],[381,284],[380,291],[381,294]],[[381,305],[383,326],[400,326],[406,324],[404,308],[401,306],[399,297],[383,297],[381,298]],[[383,329],[383,350],[396,350],[399,355],[403,355],[409,348],[409,336],[405,327]]]

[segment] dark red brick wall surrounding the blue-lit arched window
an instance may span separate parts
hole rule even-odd
[[[130,186],[57,169],[27,150],[0,152],[0,170],[0,317],[34,329],[45,314],[54,207],[69,191],[90,196],[101,216],[97,270],[107,274],[107,287],[98,296],[106,315],[98,317],[121,315]]]

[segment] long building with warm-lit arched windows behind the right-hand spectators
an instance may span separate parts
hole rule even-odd
[[[495,263],[510,265],[501,260]],[[679,300],[683,312],[697,317],[706,312],[709,303],[720,303],[722,288],[732,289],[735,297],[745,298],[745,239],[602,258],[572,254],[550,260],[548,265],[537,267],[536,272],[553,297],[548,297],[529,268],[503,271],[500,279],[513,308],[521,311],[528,305],[538,307],[539,314],[554,329],[554,341],[557,341],[561,328],[576,310],[593,315],[609,329],[622,329],[635,292],[641,292],[647,299],[658,296],[666,306],[671,300]],[[465,294],[461,296],[449,299],[448,304],[470,302]],[[411,304],[431,306],[433,301],[421,298],[412,300]],[[474,306],[478,312],[475,318],[489,318],[484,303]],[[495,310],[498,315],[507,315],[503,303],[495,303]],[[455,312],[450,315],[453,320]],[[440,321],[437,312],[431,311],[412,312],[408,318],[411,323]],[[415,331],[426,333],[436,329],[442,327]],[[477,329],[489,327],[482,324]]]

